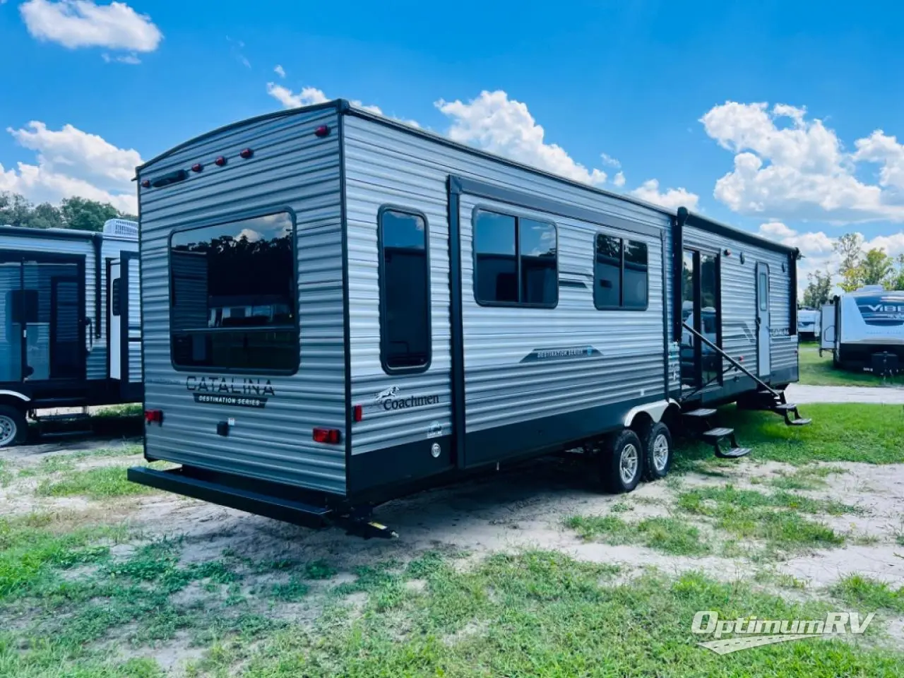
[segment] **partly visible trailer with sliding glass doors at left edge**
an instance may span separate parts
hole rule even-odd
[[[0,447],[36,410],[142,399],[137,228],[0,226]]]

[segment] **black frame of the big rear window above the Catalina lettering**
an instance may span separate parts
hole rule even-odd
[[[173,311],[174,304],[172,303],[173,293],[174,293],[174,284],[173,284],[173,236],[177,233],[183,233],[184,231],[197,231],[200,229],[210,228],[212,226],[220,226],[228,223],[232,223],[234,221],[245,221],[249,219],[259,219],[260,217],[268,217],[273,214],[279,214],[282,212],[286,212],[289,216],[289,220],[292,221],[292,298],[295,310],[295,322],[290,325],[278,325],[273,327],[250,327],[244,328],[245,332],[252,333],[265,333],[265,332],[285,332],[292,331],[295,333],[295,360],[292,363],[292,367],[284,368],[284,369],[267,369],[267,368],[244,368],[244,367],[216,367],[216,366],[208,366],[208,365],[180,365],[175,362],[174,354],[173,354]],[[195,222],[189,226],[182,226],[180,228],[173,229],[170,231],[169,236],[166,238],[166,266],[168,268],[167,271],[167,281],[169,283],[169,289],[167,294],[167,301],[170,305],[169,312],[169,327],[167,330],[167,341],[169,342],[169,353],[170,353],[170,364],[173,366],[173,369],[176,372],[205,372],[205,373],[217,373],[217,374],[251,374],[251,375],[279,375],[279,376],[291,376],[298,372],[301,364],[301,329],[300,329],[300,319],[299,319],[299,309],[301,307],[300,299],[298,298],[298,223],[297,223],[297,215],[295,210],[293,210],[288,205],[272,205],[265,208],[257,208],[254,210],[244,210],[241,212],[231,212],[228,215],[222,215],[213,219],[207,219],[203,221]],[[196,329],[181,329],[180,332],[198,332],[203,334],[216,334],[216,333],[230,333],[235,332],[236,328],[233,327],[206,327],[206,328],[196,328]]]

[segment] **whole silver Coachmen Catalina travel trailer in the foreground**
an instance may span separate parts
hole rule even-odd
[[[732,400],[806,423],[780,391],[796,250],[686,210],[342,100],[137,181],[145,456],[181,466],[135,482],[321,524],[579,446],[630,490],[668,472],[669,427]]]

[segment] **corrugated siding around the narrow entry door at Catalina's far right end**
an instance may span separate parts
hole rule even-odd
[[[731,256],[720,257],[722,350],[743,363],[748,369],[757,364],[757,262],[769,265],[769,312],[773,331],[787,330],[785,336],[773,335],[770,341],[772,372],[797,366],[796,328],[791,321],[791,275],[789,256],[775,250],[756,247],[728,236],[684,227],[684,247],[704,251],[724,252]],[[740,254],[744,254],[744,263]],[[782,270],[782,265],[785,270]],[[728,361],[722,362],[723,373],[737,374]]]

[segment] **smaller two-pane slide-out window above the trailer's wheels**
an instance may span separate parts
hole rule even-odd
[[[597,233],[593,303],[599,310],[644,310],[649,299],[646,243]]]

